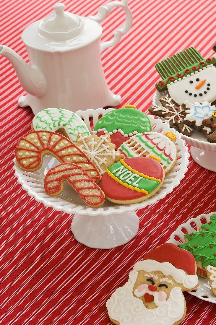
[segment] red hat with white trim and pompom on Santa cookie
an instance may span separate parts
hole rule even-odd
[[[161,271],[164,275],[171,275],[185,288],[192,289],[198,283],[195,265],[193,255],[172,243],[166,243],[146,253],[143,260],[137,262],[133,269],[147,272]]]

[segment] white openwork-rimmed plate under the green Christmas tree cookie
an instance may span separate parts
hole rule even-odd
[[[182,242],[184,243],[185,242],[184,232],[181,229],[184,228],[188,234],[190,234],[192,231],[198,231],[200,225],[209,222],[210,216],[212,214],[216,214],[216,212],[211,212],[209,214],[200,214],[196,218],[189,219],[187,222],[178,226],[178,228],[175,231],[173,231],[173,233],[170,236],[170,239],[167,242],[173,243],[175,245],[178,245],[179,243],[181,244]],[[206,221],[201,222],[201,219],[205,219]],[[191,223],[193,223],[193,225],[196,224],[196,228],[192,227]],[[176,240],[175,236],[178,236],[182,241]],[[194,291],[188,291],[188,293],[192,294],[193,296],[196,296],[199,299],[206,300],[216,304],[216,296],[211,291],[208,278],[202,278],[202,277],[198,277],[198,278],[199,278],[199,285],[197,289]]]

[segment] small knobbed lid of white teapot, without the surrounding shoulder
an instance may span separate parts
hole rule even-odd
[[[55,41],[64,41],[83,32],[83,19],[70,12],[65,12],[63,3],[56,3],[53,9],[55,13],[40,21],[39,31],[42,36]]]

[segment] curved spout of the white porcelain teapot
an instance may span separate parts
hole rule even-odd
[[[15,51],[0,45],[0,55],[13,65],[21,86],[31,95],[42,97],[46,90],[44,75],[34,66],[27,64]]]

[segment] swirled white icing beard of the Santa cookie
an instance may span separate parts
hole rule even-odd
[[[120,325],[172,325],[184,315],[184,295],[179,287],[171,290],[167,301],[154,309],[148,309],[142,300],[133,296],[133,286],[138,272],[129,274],[127,283],[111,295],[106,303],[111,319]]]

